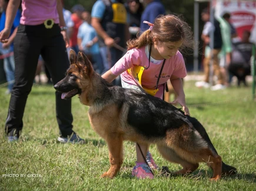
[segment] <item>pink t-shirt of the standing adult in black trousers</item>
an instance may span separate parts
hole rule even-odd
[[[40,25],[46,19],[54,19],[54,23],[59,23],[59,15],[56,9],[56,0],[22,0],[22,25]]]

